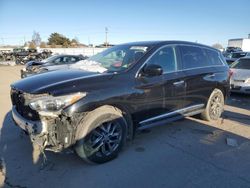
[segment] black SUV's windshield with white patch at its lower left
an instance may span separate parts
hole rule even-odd
[[[136,63],[147,51],[148,46],[118,45],[79,61],[74,68],[97,72],[120,72]],[[89,68],[91,66],[91,69]]]

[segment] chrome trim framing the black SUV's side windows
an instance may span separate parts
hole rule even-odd
[[[159,49],[157,49],[153,54],[151,54],[148,57],[148,59],[139,67],[138,71],[135,74],[135,78],[138,78],[139,72],[145,66],[145,64],[150,60],[150,58],[152,58],[153,55],[155,55],[162,48],[169,47],[169,46],[172,46],[172,47],[176,47],[176,46],[192,46],[192,47],[204,48],[204,49],[212,50],[212,51],[215,51],[215,52],[218,53],[218,51],[216,49],[211,49],[211,48],[208,48],[206,46],[196,46],[196,45],[192,45],[192,44],[166,44],[164,46],[161,46]],[[174,52],[175,52],[175,58],[176,58],[176,62],[177,62],[176,48],[174,48]],[[201,66],[201,67],[195,67],[195,68],[181,69],[181,70],[166,72],[166,73],[163,73],[163,74],[169,74],[169,73],[175,73],[175,72],[183,72],[183,71],[188,71],[188,70],[201,69],[201,68],[209,68],[209,67],[224,67],[226,65],[226,62],[223,61],[220,56],[219,56],[219,59],[221,60],[222,65],[213,65],[213,66],[212,65],[208,65],[208,66]],[[177,62],[177,64],[178,64],[178,62]]]

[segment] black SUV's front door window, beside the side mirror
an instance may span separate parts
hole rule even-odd
[[[177,70],[175,50],[173,47],[165,47],[156,52],[147,64],[160,65],[164,73]]]

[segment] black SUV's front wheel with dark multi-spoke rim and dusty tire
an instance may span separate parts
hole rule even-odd
[[[88,163],[105,163],[118,156],[127,136],[127,123],[119,109],[112,106],[97,108],[79,125],[75,146],[79,157]]]

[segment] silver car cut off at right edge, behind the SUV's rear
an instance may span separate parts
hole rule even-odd
[[[230,66],[231,92],[250,94],[250,57],[243,57]]]

